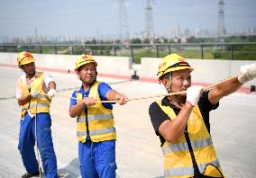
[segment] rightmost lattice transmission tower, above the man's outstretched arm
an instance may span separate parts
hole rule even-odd
[[[224,42],[224,36],[226,34],[224,28],[224,0],[219,0],[218,2],[218,29],[217,37],[219,42]]]

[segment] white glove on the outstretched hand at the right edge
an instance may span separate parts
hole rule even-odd
[[[242,75],[238,76],[238,81],[241,84],[249,82],[256,77],[256,63],[240,67],[240,72]]]

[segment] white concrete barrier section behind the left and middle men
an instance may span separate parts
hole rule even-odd
[[[74,71],[78,55],[33,54],[36,67]],[[17,65],[17,53],[0,53],[0,64]],[[132,58],[94,56],[99,74],[131,76]]]

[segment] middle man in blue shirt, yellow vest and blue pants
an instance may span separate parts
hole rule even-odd
[[[69,115],[77,117],[78,157],[82,178],[114,178],[115,139],[113,103],[120,105],[128,99],[114,91],[110,85],[96,80],[97,62],[82,54],[76,61],[75,71],[81,87],[72,93]]]

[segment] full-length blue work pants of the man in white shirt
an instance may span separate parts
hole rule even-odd
[[[51,120],[49,113],[38,113],[37,142],[41,155],[41,162],[46,178],[57,178],[57,159],[51,138]],[[34,152],[35,146],[35,117],[25,114],[21,120],[18,149],[23,158],[23,165],[27,173],[38,173],[38,162]]]

